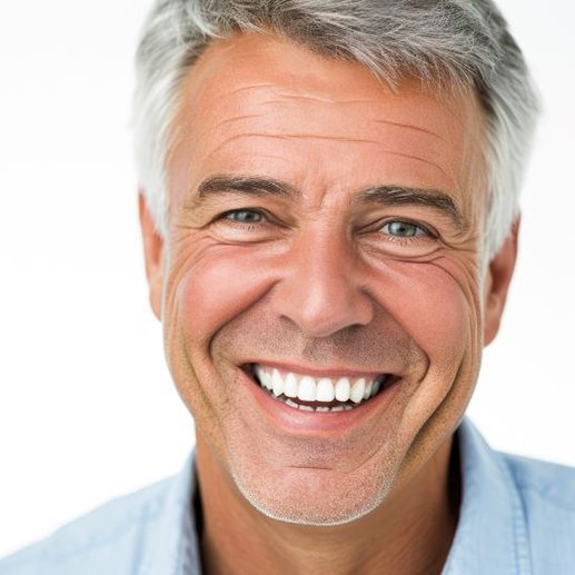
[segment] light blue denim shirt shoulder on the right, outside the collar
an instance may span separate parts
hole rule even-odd
[[[575,565],[575,468],[502,456],[522,500],[534,572],[552,573],[553,564],[554,573],[566,573]]]

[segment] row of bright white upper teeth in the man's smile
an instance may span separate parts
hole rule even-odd
[[[301,401],[348,401],[359,404],[379,391],[381,378],[377,377],[320,377],[299,375],[291,371],[280,373],[277,368],[255,366],[256,375],[261,385],[276,397],[298,398]]]

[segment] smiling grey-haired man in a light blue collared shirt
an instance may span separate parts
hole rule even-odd
[[[536,113],[496,8],[162,0],[138,73],[150,299],[196,452],[0,573],[574,573],[573,470],[463,419]]]

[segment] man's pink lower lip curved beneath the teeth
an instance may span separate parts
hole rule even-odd
[[[272,419],[275,426],[284,427],[286,432],[304,433],[334,433],[343,432],[351,427],[364,425],[374,416],[380,417],[383,412],[391,403],[399,389],[399,383],[395,381],[389,387],[381,389],[373,399],[344,412],[304,412],[290,407],[279,399],[275,399],[268,393],[244,373],[244,381],[247,391],[254,397],[257,405]]]

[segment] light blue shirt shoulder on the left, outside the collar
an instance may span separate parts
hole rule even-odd
[[[0,575],[131,572],[126,562],[133,562],[133,553],[160,516],[174,480],[118,497],[60,527],[0,561]]]

